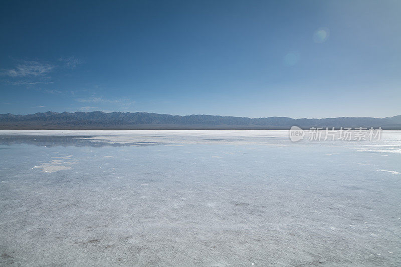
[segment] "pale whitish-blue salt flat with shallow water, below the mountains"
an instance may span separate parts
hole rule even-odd
[[[400,131],[0,130],[0,180],[0,265],[401,265]]]

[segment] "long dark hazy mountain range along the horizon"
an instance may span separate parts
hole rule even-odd
[[[233,117],[169,115],[147,112],[38,112],[29,115],[0,114],[0,129],[289,129],[310,127],[379,127],[401,129],[401,115],[385,118],[336,117]]]

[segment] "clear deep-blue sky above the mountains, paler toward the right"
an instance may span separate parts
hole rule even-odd
[[[401,114],[399,0],[0,3],[0,113]]]

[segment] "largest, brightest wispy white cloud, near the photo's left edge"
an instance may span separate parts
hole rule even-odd
[[[39,61],[24,61],[15,68],[6,69],[2,72],[11,77],[44,76],[53,71],[54,65]]]

